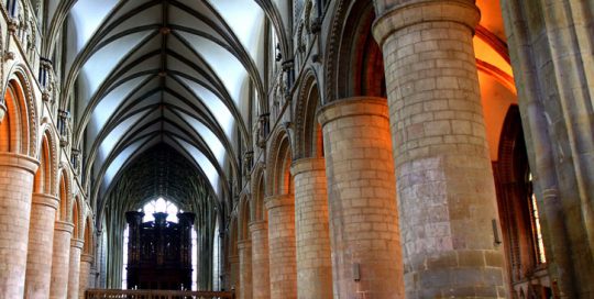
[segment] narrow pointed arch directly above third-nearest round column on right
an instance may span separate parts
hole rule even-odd
[[[316,73],[309,70],[299,87],[295,111],[295,158],[323,155],[321,129],[316,120],[321,106]]]

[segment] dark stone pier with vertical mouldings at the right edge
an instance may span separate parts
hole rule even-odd
[[[594,5],[588,3],[501,1],[556,298],[594,298]]]

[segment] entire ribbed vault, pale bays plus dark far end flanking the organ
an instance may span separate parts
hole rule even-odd
[[[106,230],[107,286],[121,284],[124,212],[163,197],[197,214],[199,280],[209,288],[215,221],[231,210],[240,158],[251,151],[252,113],[265,107],[265,18],[276,15],[275,5],[44,3],[51,21],[42,31],[65,37],[48,38],[42,52],[54,62],[84,189]]]

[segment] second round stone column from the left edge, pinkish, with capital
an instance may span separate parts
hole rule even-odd
[[[25,298],[50,297],[57,197],[34,193],[29,229]]]

